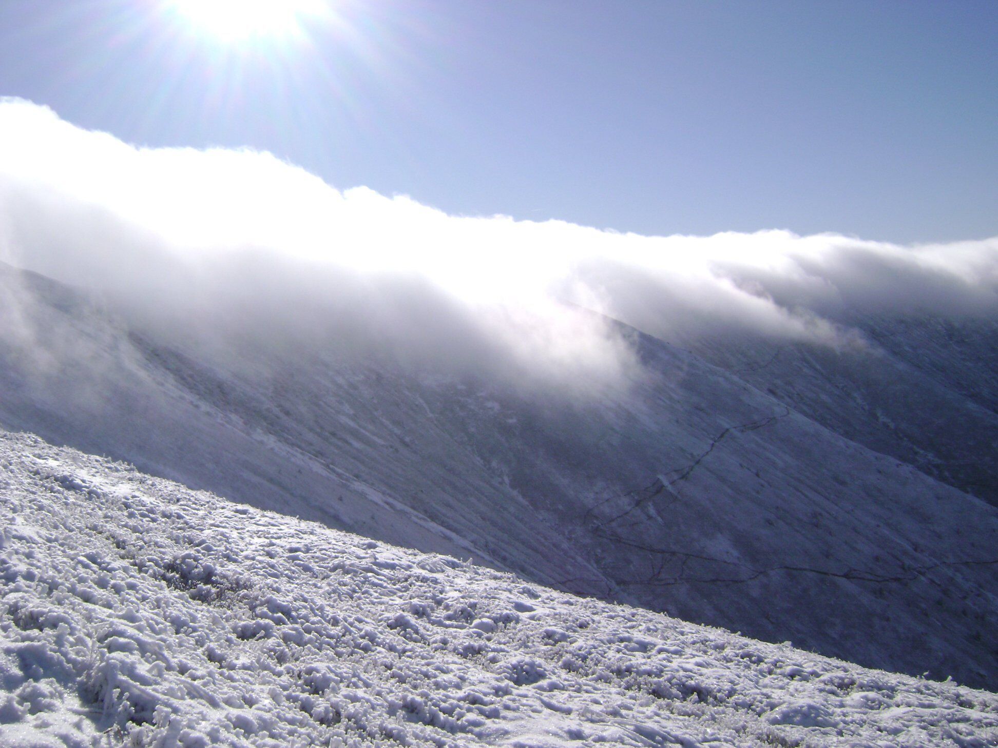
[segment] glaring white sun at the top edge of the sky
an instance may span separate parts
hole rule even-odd
[[[294,36],[328,10],[327,0],[169,0],[168,6],[193,27],[230,42]]]

